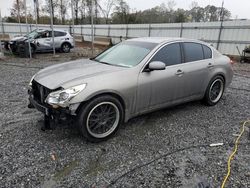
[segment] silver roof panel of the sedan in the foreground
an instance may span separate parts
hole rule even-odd
[[[187,41],[187,42],[204,43],[204,42],[196,40],[196,39],[187,39],[187,38],[180,38],[180,37],[140,37],[140,38],[128,39],[127,41],[151,42],[151,43],[156,43],[156,44],[173,42],[173,41]]]

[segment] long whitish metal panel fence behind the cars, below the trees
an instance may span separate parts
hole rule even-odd
[[[74,35],[91,40],[91,25],[76,25],[74,31],[68,25],[55,25],[56,29],[68,30]],[[38,25],[38,28],[50,28],[49,25]],[[29,30],[36,29],[30,25]],[[11,37],[27,32],[25,24],[2,23],[0,33]],[[223,54],[239,55],[237,46],[242,51],[250,45],[250,20],[235,20],[221,22],[198,23],[168,23],[168,24],[123,24],[95,25],[95,36],[110,37],[113,43],[118,43],[120,37],[184,37],[200,39],[218,48]]]

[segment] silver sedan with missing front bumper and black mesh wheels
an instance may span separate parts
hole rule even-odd
[[[30,82],[29,106],[46,122],[70,114],[98,142],[140,114],[193,100],[215,105],[232,77],[230,59],[204,42],[136,38],[41,70]]]

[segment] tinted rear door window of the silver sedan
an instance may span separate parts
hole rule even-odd
[[[198,61],[203,59],[202,45],[193,42],[183,43],[185,62]]]

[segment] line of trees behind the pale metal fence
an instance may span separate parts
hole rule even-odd
[[[51,6],[52,5],[52,6]],[[166,4],[147,10],[133,10],[125,0],[34,0],[34,7],[29,6],[27,17],[29,23],[49,24],[52,12],[54,24],[90,24],[91,9],[95,24],[140,24],[140,23],[180,23],[210,22],[231,17],[229,10],[214,5],[201,7],[196,1],[191,2],[188,10],[177,8],[176,2],[169,0]],[[74,17],[74,20],[72,20]],[[10,16],[6,22],[25,23],[24,0],[14,0]]]

